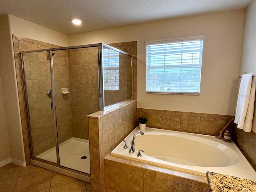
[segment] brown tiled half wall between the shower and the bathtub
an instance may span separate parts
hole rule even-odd
[[[136,100],[88,116],[92,192],[105,190],[104,157],[136,127]]]

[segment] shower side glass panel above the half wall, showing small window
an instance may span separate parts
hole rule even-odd
[[[104,106],[131,99],[131,56],[103,46]]]

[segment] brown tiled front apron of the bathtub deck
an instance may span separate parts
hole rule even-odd
[[[107,192],[208,192],[206,176],[108,155]]]

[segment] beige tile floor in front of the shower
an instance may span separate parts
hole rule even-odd
[[[0,192],[90,192],[90,183],[34,165],[0,168]]]

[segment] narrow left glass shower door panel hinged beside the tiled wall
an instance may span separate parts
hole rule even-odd
[[[47,95],[52,88],[49,54],[46,51],[24,54],[23,63],[31,154],[57,163],[52,97]]]

